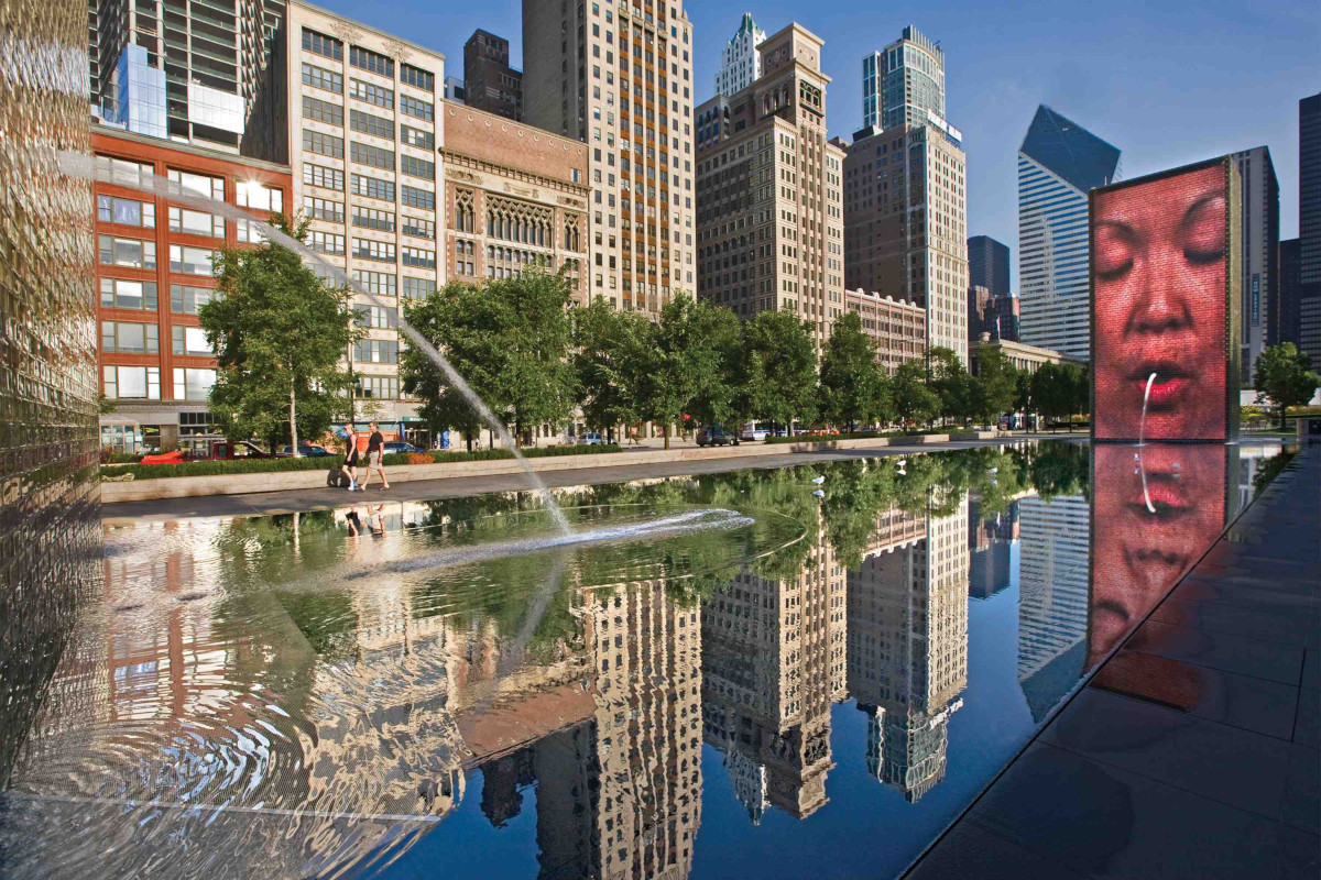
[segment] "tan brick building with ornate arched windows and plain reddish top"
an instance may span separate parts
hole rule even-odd
[[[443,108],[446,277],[503,278],[540,263],[565,268],[583,302],[587,145],[462,104]]]

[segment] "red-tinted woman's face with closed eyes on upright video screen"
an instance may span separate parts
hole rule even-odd
[[[1096,437],[1223,438],[1225,169],[1102,193],[1095,211]]]

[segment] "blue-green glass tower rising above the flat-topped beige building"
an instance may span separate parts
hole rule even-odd
[[[945,53],[917,28],[863,58],[863,127],[925,125],[945,119]]]

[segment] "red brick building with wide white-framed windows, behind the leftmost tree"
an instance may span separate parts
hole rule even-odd
[[[289,169],[189,144],[92,125],[96,156],[96,284],[100,294],[103,446],[119,451],[205,451],[218,439],[207,414],[215,359],[197,309],[215,289],[211,253],[260,240],[234,223],[144,194],[144,174],[244,208],[256,219],[292,210]]]

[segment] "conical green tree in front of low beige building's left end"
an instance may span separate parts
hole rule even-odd
[[[826,421],[841,429],[890,420],[889,381],[876,363],[876,348],[863,332],[863,319],[848,311],[826,343],[820,365],[820,408]]]

